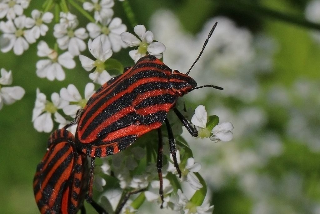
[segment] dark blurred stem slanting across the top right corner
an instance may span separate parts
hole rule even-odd
[[[243,13],[250,13],[256,17],[268,16],[273,19],[286,21],[289,23],[293,23],[296,25],[300,25],[306,28],[312,28],[315,30],[320,30],[320,25],[307,21],[302,15],[288,15],[285,13],[281,13],[263,6],[259,4],[250,4],[246,1],[238,1],[238,0],[229,0],[229,1],[220,1],[220,4],[224,4],[227,7],[234,8],[236,11],[242,11]]]

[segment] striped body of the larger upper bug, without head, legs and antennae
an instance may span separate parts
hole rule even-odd
[[[91,157],[104,157],[159,128],[178,98],[171,90],[170,75],[168,66],[148,55],[102,86],[79,120],[80,148]]]

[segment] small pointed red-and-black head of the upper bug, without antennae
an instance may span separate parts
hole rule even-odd
[[[171,85],[171,90],[180,97],[187,94],[189,91],[192,91],[192,89],[197,86],[194,79],[177,70],[174,70],[170,75],[169,83]]]

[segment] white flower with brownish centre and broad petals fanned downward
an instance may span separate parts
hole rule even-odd
[[[50,81],[53,81],[54,79],[62,81],[66,77],[62,66],[68,69],[72,69],[76,66],[73,56],[69,52],[64,52],[58,56],[58,53],[49,48],[45,41],[40,41],[37,48],[38,56],[49,58],[41,59],[36,63],[36,74],[40,78],[47,78]]]

